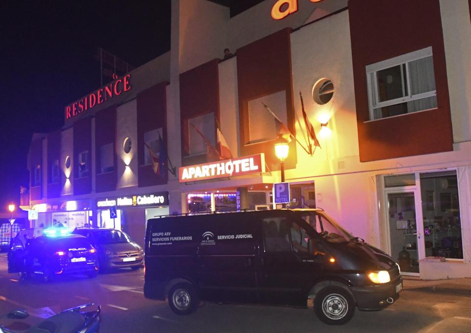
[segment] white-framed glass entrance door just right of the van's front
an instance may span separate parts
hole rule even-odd
[[[419,260],[424,257],[422,219],[416,210],[416,191],[386,192],[389,250],[404,275],[419,275]]]

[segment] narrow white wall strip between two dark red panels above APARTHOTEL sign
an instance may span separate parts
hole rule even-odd
[[[219,63],[219,110],[221,132],[233,157],[238,154],[239,101],[237,95],[237,59],[233,57]]]

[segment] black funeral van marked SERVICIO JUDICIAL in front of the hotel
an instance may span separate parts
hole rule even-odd
[[[319,209],[169,216],[149,220],[146,298],[177,314],[200,300],[313,306],[326,324],[399,298],[399,266]]]

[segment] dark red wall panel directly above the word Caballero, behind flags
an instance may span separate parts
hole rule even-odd
[[[168,180],[167,161],[158,176],[152,165],[144,166],[144,133],[162,128],[162,139],[167,145],[167,94],[168,83],[162,82],[137,94],[137,153],[139,162],[139,187],[166,184]]]

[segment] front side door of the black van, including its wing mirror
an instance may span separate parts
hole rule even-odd
[[[262,219],[260,298],[262,303],[305,306],[307,293],[322,274],[308,251],[302,225],[284,216]]]

